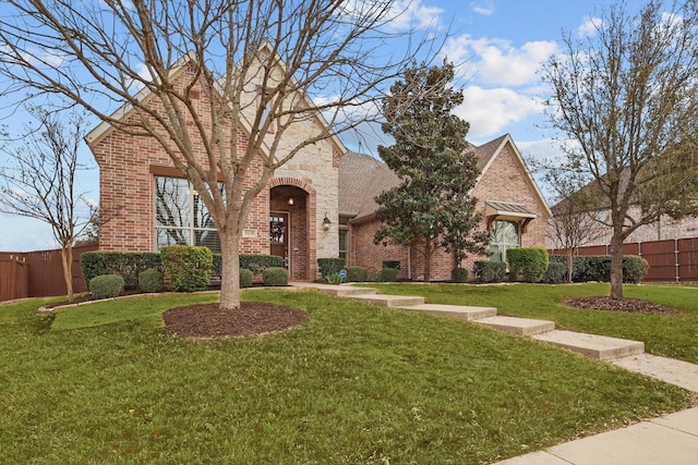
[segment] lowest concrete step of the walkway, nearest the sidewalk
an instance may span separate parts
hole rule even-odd
[[[645,352],[642,342],[581,332],[554,330],[531,338],[602,360],[615,360]]]

